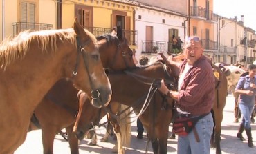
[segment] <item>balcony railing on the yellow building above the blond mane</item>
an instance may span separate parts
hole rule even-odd
[[[51,30],[53,29],[52,24],[45,24],[45,23],[27,23],[27,22],[17,22],[12,23],[13,27],[13,36],[16,36],[19,34],[19,32],[22,32],[24,30]]]

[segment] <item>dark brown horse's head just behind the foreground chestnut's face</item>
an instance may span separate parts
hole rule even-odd
[[[97,37],[100,57],[104,68],[109,70],[125,70],[134,68],[133,52],[129,48],[128,41],[122,36],[122,29],[113,28],[111,34]]]

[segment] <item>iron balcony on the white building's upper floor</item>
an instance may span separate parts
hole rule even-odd
[[[165,41],[142,41],[141,53],[152,54],[158,52],[165,52]]]

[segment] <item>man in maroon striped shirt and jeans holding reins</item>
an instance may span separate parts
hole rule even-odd
[[[202,117],[194,126],[196,131],[178,135],[178,154],[210,154],[210,138],[214,126],[210,113],[214,104],[215,81],[212,66],[203,55],[199,37],[185,39],[183,49],[185,61],[177,66],[180,68],[178,90],[169,90],[163,80],[158,90],[177,100],[175,105],[178,117]],[[174,61],[169,61],[169,64],[177,65]]]

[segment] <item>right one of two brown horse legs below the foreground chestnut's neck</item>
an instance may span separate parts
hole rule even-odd
[[[78,150],[78,139],[75,137],[75,133],[73,133],[74,124],[68,126],[66,128],[66,133],[68,133],[68,144],[71,150],[71,154],[79,154]]]

